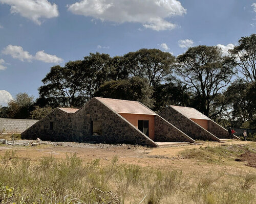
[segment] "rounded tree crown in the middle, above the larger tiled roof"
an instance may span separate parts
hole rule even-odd
[[[156,87],[172,72],[175,57],[159,49],[140,49],[123,56],[124,66],[132,77],[148,79]]]

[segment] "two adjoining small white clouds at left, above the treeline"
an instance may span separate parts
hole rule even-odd
[[[42,62],[47,63],[60,63],[63,60],[61,58],[58,58],[56,55],[49,55],[45,53],[45,50],[38,51],[35,56],[32,56],[29,54],[28,51],[23,50],[22,46],[17,45],[8,45],[6,46],[3,51],[3,54],[10,55],[15,59],[19,59],[24,62],[24,60],[27,60],[28,62],[31,62],[32,60],[39,60]]]

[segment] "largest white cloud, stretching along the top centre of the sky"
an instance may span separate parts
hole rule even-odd
[[[166,18],[186,13],[186,9],[177,0],[81,0],[69,5],[68,10],[102,21],[138,22],[155,31],[176,28],[177,25]]]

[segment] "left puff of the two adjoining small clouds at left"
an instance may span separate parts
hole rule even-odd
[[[24,51],[22,46],[16,46],[16,45],[8,45],[4,48],[2,51],[5,55],[10,55],[15,59],[19,59],[24,62],[24,60],[27,60],[31,62],[33,56],[29,54],[29,52]]]

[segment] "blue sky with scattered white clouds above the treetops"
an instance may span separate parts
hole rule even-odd
[[[0,0],[0,105],[38,97],[50,68],[90,53],[188,47],[223,54],[256,31],[256,0]]]

